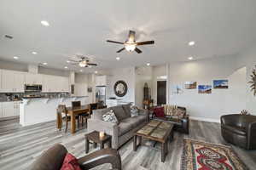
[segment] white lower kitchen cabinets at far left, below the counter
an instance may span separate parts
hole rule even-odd
[[[2,117],[19,116],[20,101],[2,102]]]

